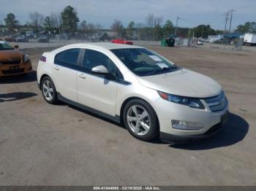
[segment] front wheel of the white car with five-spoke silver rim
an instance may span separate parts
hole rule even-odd
[[[151,141],[159,136],[157,114],[146,101],[129,101],[124,106],[123,121],[125,128],[137,139]]]

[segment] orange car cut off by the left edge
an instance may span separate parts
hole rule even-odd
[[[29,55],[24,54],[17,48],[15,49],[11,44],[0,39],[0,77],[28,74],[32,71]]]

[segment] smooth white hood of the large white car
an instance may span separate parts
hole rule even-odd
[[[222,87],[214,79],[187,69],[138,77],[138,81],[154,90],[192,98],[207,98],[222,92]]]

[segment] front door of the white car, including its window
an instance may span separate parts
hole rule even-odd
[[[100,112],[116,115],[116,92],[118,83],[91,73],[95,66],[105,66],[116,75],[117,67],[107,55],[96,50],[84,50],[82,58],[83,71],[78,71],[78,103]]]

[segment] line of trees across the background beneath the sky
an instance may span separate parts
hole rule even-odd
[[[15,15],[10,12],[4,18],[5,26],[10,34],[19,28],[19,21]],[[87,23],[86,20],[78,18],[78,12],[74,7],[67,6],[60,13],[51,13],[44,16],[39,12],[29,13],[29,21],[25,26],[32,28],[35,34],[40,31],[50,31],[53,34],[98,34],[102,29],[100,24]],[[114,20],[110,26],[112,31],[116,32],[116,37],[124,39],[141,39],[141,40],[160,40],[164,37],[171,36],[175,33],[177,36],[188,36],[193,34],[196,37],[207,38],[208,35],[223,34],[222,30],[214,30],[210,25],[199,25],[194,28],[181,28],[173,26],[171,20],[163,23],[162,17],[156,17],[154,14],[148,14],[145,23],[135,23],[131,21],[125,27],[121,20]],[[256,33],[256,23],[246,22],[244,25],[237,26],[236,33]]]

